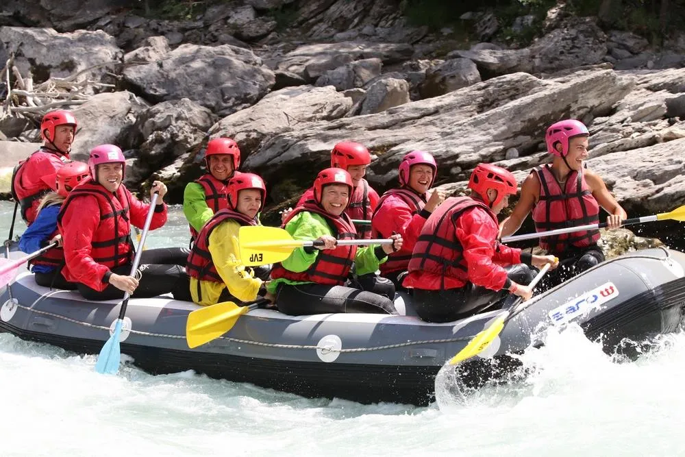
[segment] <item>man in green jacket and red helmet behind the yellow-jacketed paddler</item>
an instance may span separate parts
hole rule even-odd
[[[214,215],[228,207],[228,180],[240,173],[240,149],[231,138],[214,138],[207,144],[205,164],[208,173],[189,182],[183,193],[183,214],[190,224],[191,241]]]

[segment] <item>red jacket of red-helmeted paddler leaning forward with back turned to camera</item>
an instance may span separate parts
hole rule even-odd
[[[463,204],[463,199],[471,200],[471,197],[445,199],[428,218],[421,237],[441,234],[451,239],[453,250],[461,252],[460,262],[466,266],[465,277],[459,274],[457,269],[454,275],[445,275],[442,269],[414,269],[412,267],[419,267],[419,262],[416,262],[410,263],[409,274],[403,281],[403,286],[438,291],[460,288],[466,285],[466,282],[472,282],[476,286],[499,291],[507,280],[507,272],[501,266],[521,262],[521,249],[501,245],[497,241],[499,225],[495,214],[484,205],[470,208],[456,206],[456,203]],[[455,214],[456,219],[450,217],[450,212]],[[451,227],[451,230],[445,230],[446,227]],[[419,247],[421,246],[416,245],[417,256],[421,255]],[[452,259],[445,256],[445,260],[451,262]]]

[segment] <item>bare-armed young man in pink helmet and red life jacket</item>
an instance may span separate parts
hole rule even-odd
[[[597,173],[586,169],[588,128],[580,121],[567,119],[547,129],[547,151],[554,156],[552,164],[538,166],[521,186],[521,197],[511,216],[501,223],[501,235],[519,230],[530,212],[537,232],[578,225],[599,223],[599,207],[608,213],[610,230],[627,219],[625,210],[611,195]],[[551,283],[560,282],[603,262],[604,254],[597,245],[599,230],[584,230],[540,238],[540,247],[560,259]]]

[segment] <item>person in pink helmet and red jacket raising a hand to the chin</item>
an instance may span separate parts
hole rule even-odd
[[[399,164],[399,188],[390,189],[382,195],[371,219],[373,238],[388,238],[400,234],[404,240],[402,249],[390,254],[381,264],[381,275],[401,286],[401,277],[407,271],[409,260],[421,228],[430,214],[445,199],[442,190],[435,189],[426,199],[435,181],[438,166],[433,156],[424,151],[411,151]]]

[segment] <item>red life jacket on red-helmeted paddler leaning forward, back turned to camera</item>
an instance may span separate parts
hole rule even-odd
[[[469,208],[480,206],[493,218],[497,217],[484,203],[471,197],[449,197],[436,208],[428,218],[419,240],[414,246],[414,254],[409,262],[409,271],[425,271],[440,275],[440,289],[445,288],[445,277],[455,277],[462,282],[468,281],[468,264],[464,260],[464,247],[456,234],[456,221],[460,214]]]

